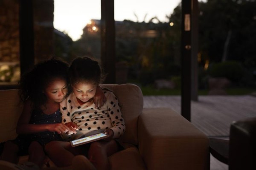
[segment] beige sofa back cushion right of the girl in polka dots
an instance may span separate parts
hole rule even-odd
[[[137,122],[143,110],[143,94],[140,88],[134,84],[104,84],[102,88],[108,88],[116,95],[122,116],[125,120],[125,134],[122,141],[137,144]]]

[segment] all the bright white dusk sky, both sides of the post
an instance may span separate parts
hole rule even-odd
[[[115,20],[132,20],[145,22],[157,16],[162,22],[166,15],[181,0],[114,0]],[[73,40],[80,38],[82,29],[91,19],[101,19],[101,0],[54,0],[54,27],[65,31]]]

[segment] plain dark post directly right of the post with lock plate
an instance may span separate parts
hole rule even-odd
[[[192,0],[191,99],[198,101],[198,0]]]

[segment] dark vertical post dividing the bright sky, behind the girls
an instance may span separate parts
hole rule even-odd
[[[107,77],[116,82],[114,0],[101,0],[101,62]]]

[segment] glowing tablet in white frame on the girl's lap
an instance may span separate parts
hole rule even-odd
[[[97,133],[97,134],[94,134],[94,135],[91,135],[91,136],[87,136],[87,137],[83,137],[83,138],[80,138],[80,139],[70,141],[70,143],[71,143],[71,146],[76,147],[76,146],[79,146],[81,144],[87,144],[87,143],[90,143],[90,142],[93,142],[93,141],[108,138],[108,136],[109,135],[107,135],[105,133]]]

